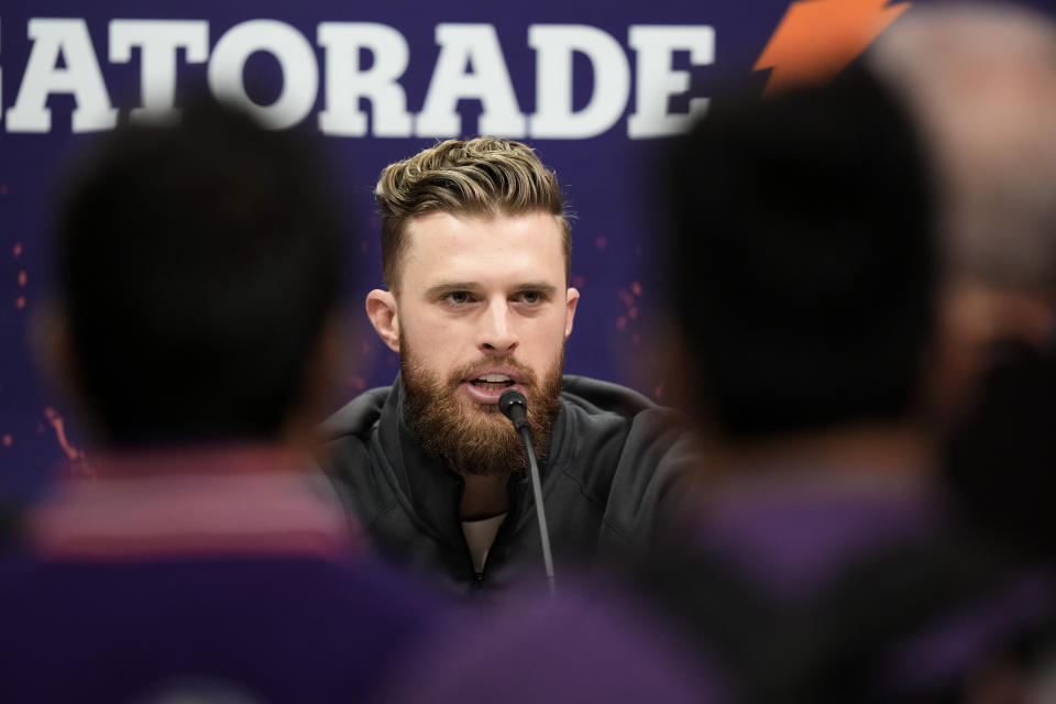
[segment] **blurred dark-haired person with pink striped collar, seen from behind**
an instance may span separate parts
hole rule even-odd
[[[54,340],[101,442],[0,560],[0,700],[367,698],[439,612],[311,460],[344,238],[315,145],[200,102],[68,194]]]

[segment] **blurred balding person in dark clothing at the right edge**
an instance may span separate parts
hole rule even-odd
[[[915,8],[869,54],[939,167],[942,319],[976,392],[944,480],[989,536],[1056,556],[1056,24],[1010,4]]]

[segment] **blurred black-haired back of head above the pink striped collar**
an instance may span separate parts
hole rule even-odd
[[[333,354],[341,229],[311,144],[200,102],[127,125],[57,223],[58,369],[105,444],[310,428]]]

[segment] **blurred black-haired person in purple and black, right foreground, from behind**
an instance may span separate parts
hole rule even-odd
[[[989,688],[982,666],[1050,600],[963,540],[930,482],[944,348],[930,164],[908,110],[860,66],[762,102],[716,99],[668,176],[675,374],[712,481],[686,552],[659,558],[646,592],[736,701]]]

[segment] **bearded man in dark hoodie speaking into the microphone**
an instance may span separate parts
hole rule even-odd
[[[323,462],[381,550],[461,593],[541,573],[507,388],[528,400],[559,564],[654,544],[691,453],[671,411],[562,376],[580,293],[556,175],[524,144],[451,140],[385,168],[375,197],[387,289],[366,312],[400,374],[324,424]]]

